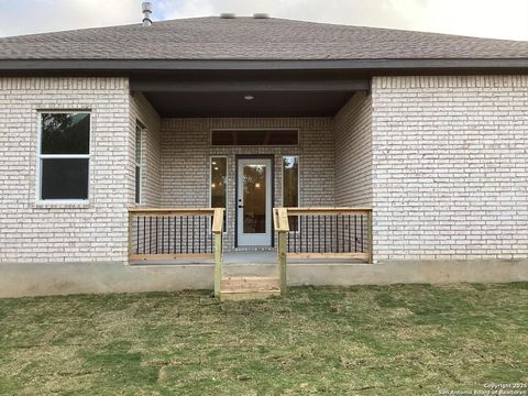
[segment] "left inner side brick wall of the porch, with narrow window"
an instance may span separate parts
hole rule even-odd
[[[132,175],[135,177],[135,127],[140,121],[144,128],[142,133],[142,190],[141,206],[160,207],[162,204],[162,174],[161,174],[161,119],[156,110],[142,94],[130,97],[130,129],[132,134],[133,162]],[[135,179],[132,178],[132,197],[135,197]]]

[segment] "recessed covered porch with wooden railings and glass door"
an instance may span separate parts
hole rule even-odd
[[[132,79],[130,263],[372,262],[371,112],[331,73]]]

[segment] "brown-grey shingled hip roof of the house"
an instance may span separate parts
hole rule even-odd
[[[528,59],[528,42],[218,16],[0,38],[0,61]]]

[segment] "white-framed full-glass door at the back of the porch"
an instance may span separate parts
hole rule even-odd
[[[272,160],[239,160],[238,167],[238,245],[271,246]]]

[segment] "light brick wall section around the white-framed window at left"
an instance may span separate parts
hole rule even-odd
[[[88,205],[38,205],[38,110],[91,111]],[[127,78],[0,78],[0,262],[125,261]],[[132,198],[133,199],[133,198]]]

